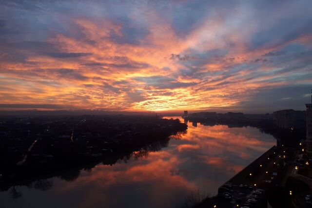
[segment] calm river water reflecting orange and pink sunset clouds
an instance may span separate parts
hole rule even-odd
[[[214,195],[217,188],[267,151],[276,140],[258,129],[194,127],[167,147],[144,156],[98,164],[72,180],[52,177],[31,188],[0,192],[4,208],[176,208],[192,191]]]

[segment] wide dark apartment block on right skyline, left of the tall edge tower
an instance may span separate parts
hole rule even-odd
[[[273,112],[275,124],[282,129],[302,128],[305,125],[305,111],[292,109]]]

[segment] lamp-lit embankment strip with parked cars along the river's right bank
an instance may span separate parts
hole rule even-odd
[[[220,186],[217,196],[206,198],[195,205],[195,208],[214,206],[237,208],[245,205],[247,207],[251,199],[254,200],[254,208],[265,208],[267,204],[265,190],[269,188],[266,179],[276,174],[269,186],[273,187],[279,182],[282,169],[280,167],[277,167],[279,171],[272,169],[273,164],[277,166],[276,157],[278,157],[279,153],[277,147],[273,146]]]

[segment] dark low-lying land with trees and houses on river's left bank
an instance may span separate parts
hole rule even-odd
[[[0,190],[46,176],[70,180],[82,168],[158,150],[186,130],[155,115],[0,117]]]

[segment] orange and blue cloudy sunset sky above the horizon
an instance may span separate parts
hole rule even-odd
[[[311,0],[0,1],[0,110],[304,110]]]

